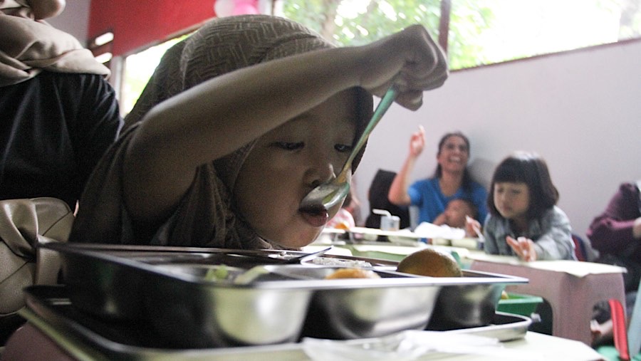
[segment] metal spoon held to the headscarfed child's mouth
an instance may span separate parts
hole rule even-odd
[[[394,86],[387,90],[383,98],[380,100],[380,103],[378,103],[376,110],[374,110],[372,119],[370,119],[368,126],[365,127],[363,134],[360,135],[358,142],[356,142],[356,145],[350,153],[350,157],[348,157],[338,176],[330,182],[320,184],[318,187],[312,189],[311,192],[303,198],[303,202],[301,202],[301,209],[313,213],[320,213],[328,211],[328,209],[335,206],[345,198],[350,191],[351,170],[354,157],[356,157],[360,148],[365,145],[365,141],[368,140],[370,132],[372,132],[374,127],[378,124],[380,118],[385,114],[387,109],[390,108],[390,105],[394,103],[397,93],[398,92]]]

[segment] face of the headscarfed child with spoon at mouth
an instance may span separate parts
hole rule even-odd
[[[356,95],[338,93],[260,137],[234,188],[241,214],[264,239],[302,247],[316,239],[328,217],[299,207],[308,192],[340,172],[355,137]]]

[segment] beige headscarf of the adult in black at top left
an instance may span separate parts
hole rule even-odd
[[[0,0],[0,87],[31,79],[42,70],[110,75],[109,69],[96,61],[78,39],[36,19],[56,15],[33,9],[48,9],[51,4],[47,3],[51,2],[59,3]]]

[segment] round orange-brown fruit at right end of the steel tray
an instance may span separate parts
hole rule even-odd
[[[431,277],[462,277],[461,266],[449,253],[424,248],[410,253],[398,263],[397,271]]]

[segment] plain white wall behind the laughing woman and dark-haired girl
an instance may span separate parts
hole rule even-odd
[[[372,177],[400,169],[419,124],[427,145],[414,179],[432,175],[439,138],[452,130],[469,137],[483,183],[509,152],[536,151],[548,162],[558,205],[585,236],[617,185],[641,178],[641,41],[457,71],[424,94],[417,112],[392,105],[355,174],[363,219]]]

